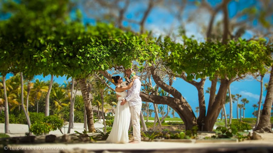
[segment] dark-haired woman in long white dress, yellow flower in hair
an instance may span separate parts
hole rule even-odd
[[[120,101],[126,98],[127,92],[125,90],[128,90],[132,87],[133,82],[136,78],[137,76],[134,77],[134,79],[128,84],[128,86],[124,86],[122,83],[123,82],[122,77],[120,76],[112,77],[112,81],[115,82],[117,85],[116,97],[118,99],[118,103],[116,105],[116,113],[115,113],[113,127],[108,138],[106,139],[107,143],[128,143],[129,142],[128,129],[129,129],[130,120],[131,120],[130,107],[129,107],[129,103],[120,105]]]

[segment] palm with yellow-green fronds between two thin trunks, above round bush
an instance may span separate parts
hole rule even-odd
[[[40,81],[39,79],[36,79],[33,88],[31,89],[31,97],[33,98],[34,102],[36,103],[36,110],[37,113],[39,111],[39,100],[42,96],[45,96],[45,93],[48,91],[48,86],[46,86],[44,81]],[[32,106],[34,106],[34,103],[31,103]]]

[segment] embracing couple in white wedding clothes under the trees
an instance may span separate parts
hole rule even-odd
[[[140,111],[142,101],[140,98],[141,82],[132,69],[126,70],[126,76],[131,80],[126,86],[123,85],[122,77],[112,77],[112,81],[116,83],[116,96],[118,103],[116,105],[116,113],[112,130],[106,139],[108,143],[128,143],[128,129],[130,119],[132,119],[133,138],[130,143],[141,142],[140,135]],[[127,90],[127,92],[126,92]]]

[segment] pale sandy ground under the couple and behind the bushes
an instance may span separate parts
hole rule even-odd
[[[63,128],[62,131],[67,132],[66,128]],[[101,122],[95,123],[95,128],[102,129],[103,124]],[[0,124],[0,133],[4,133],[5,126],[3,123]],[[74,131],[82,132],[83,123],[75,123],[75,128],[71,130],[71,133],[75,133]],[[28,125],[22,124],[10,124],[10,132],[11,137],[13,136],[25,136],[25,132],[28,132]],[[51,131],[49,134],[62,135],[59,130]],[[202,136],[209,136],[212,133],[201,133]],[[101,152],[103,150],[110,151],[124,151],[124,152],[134,152],[134,151],[155,151],[155,150],[194,150],[194,149],[223,149],[223,148],[273,148],[273,133],[261,133],[263,139],[261,140],[244,140],[242,142],[141,142],[141,143],[128,143],[128,144],[109,144],[104,141],[97,143],[75,143],[75,144],[64,144],[64,143],[45,143],[45,144],[12,144],[7,147],[9,150],[16,150],[16,147],[25,147],[23,150],[29,150],[26,148],[32,148],[35,150],[37,148],[42,148],[43,152],[59,152],[62,149],[72,150],[72,149],[83,149],[87,151],[98,151]],[[4,147],[4,146],[1,146]],[[44,147],[44,148],[43,148]],[[49,148],[55,147],[54,150]],[[18,148],[17,148],[18,149]],[[200,150],[199,150],[200,151]],[[1,152],[1,151],[0,151]],[[30,151],[31,152],[31,151]],[[80,151],[81,152],[81,151]],[[197,151],[198,152],[198,151]]]

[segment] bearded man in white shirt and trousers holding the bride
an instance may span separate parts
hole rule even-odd
[[[131,73],[134,71],[132,69],[126,70],[126,76],[131,80]],[[124,105],[129,102],[130,110],[131,110],[131,119],[133,125],[133,137],[134,141],[132,143],[139,143],[141,141],[140,135],[140,111],[142,106],[142,100],[139,96],[141,88],[141,82],[137,78],[133,82],[133,86],[127,90],[126,99],[121,100],[120,105]]]

